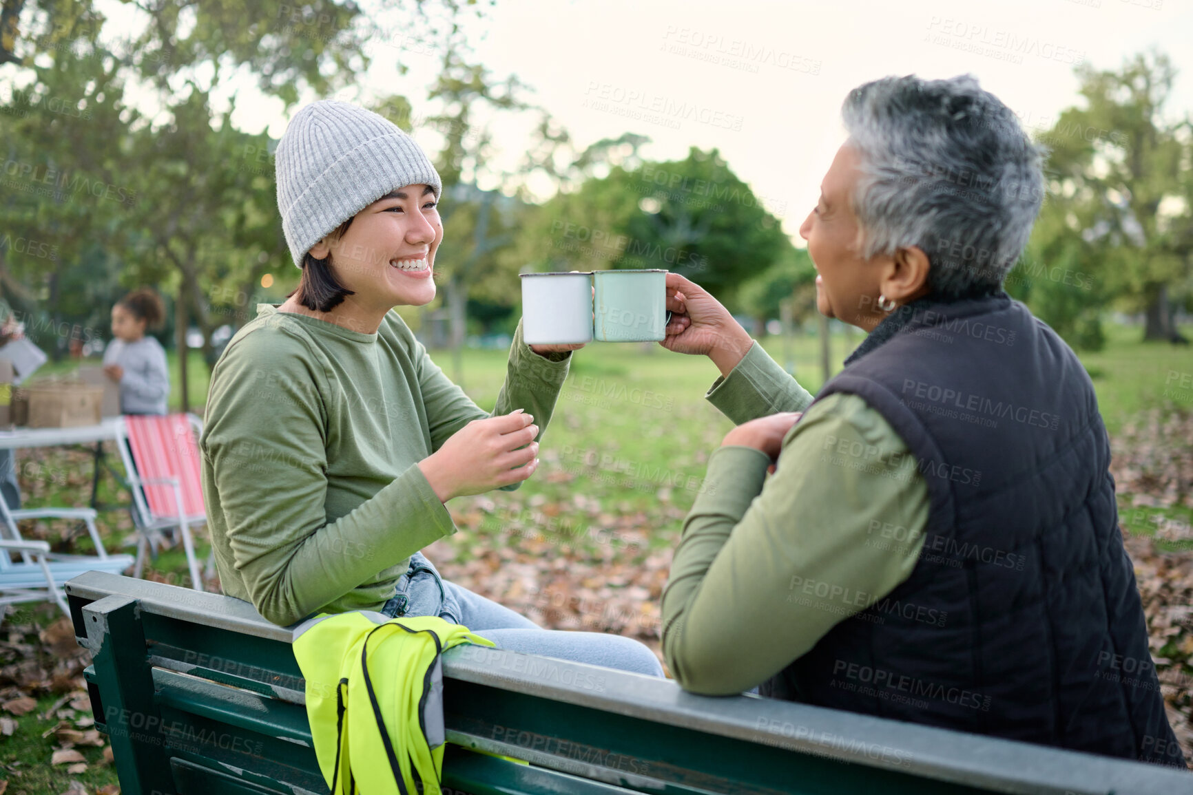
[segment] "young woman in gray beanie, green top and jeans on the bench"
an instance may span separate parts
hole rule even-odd
[[[580,346],[531,348],[519,327],[483,411],[390,311],[435,294],[440,181],[419,145],[376,113],[319,101],[290,122],[276,166],[302,280],[228,343],[200,440],[224,592],[279,625],[439,615],[505,648],[661,676],[642,644],[542,629],[420,552],[456,532],[445,502],[534,473]]]

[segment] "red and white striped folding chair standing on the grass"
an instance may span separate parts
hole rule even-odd
[[[194,558],[192,524],[205,524],[199,479],[199,434],[193,414],[125,415],[117,424],[117,447],[132,491],[132,521],[141,533],[134,577],[141,577],[146,552],[159,530],[178,528],[196,590],[203,577]]]

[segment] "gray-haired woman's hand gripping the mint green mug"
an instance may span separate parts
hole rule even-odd
[[[678,273],[667,274],[667,309],[672,319],[659,344],[675,353],[706,355],[722,375],[729,375],[754,344],[754,337],[719,300]]]

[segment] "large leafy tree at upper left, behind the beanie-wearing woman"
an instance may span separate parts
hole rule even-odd
[[[220,300],[211,298],[251,293],[271,257],[285,262],[278,254],[285,246],[272,168],[245,168],[246,154],[270,143],[233,129],[230,111],[216,117],[210,97],[221,75],[245,69],[262,91],[290,106],[299,88],[327,94],[366,68],[367,39],[379,33],[376,20],[407,23],[401,29],[409,43],[440,36],[444,29],[458,36],[458,17],[477,6],[471,0],[416,0],[404,10],[366,13],[352,0],[131,5],[143,24],[122,41],[89,0],[5,1],[0,64],[7,64],[0,68],[8,70],[13,86],[18,76],[27,80],[2,108],[8,118],[0,117],[8,160],[18,170],[29,166],[23,174],[52,172],[57,181],[44,192],[36,184],[42,178],[30,179],[35,190],[10,197],[0,212],[6,234],[24,240],[29,235],[21,232],[51,229],[60,242],[58,265],[25,271],[24,278],[52,284],[62,268],[80,267],[84,249],[100,244],[128,256],[125,281],[175,292],[185,374],[188,318],[204,330],[208,362],[214,364],[210,331],[217,323],[208,310]],[[432,6],[441,13],[429,14]],[[390,52],[407,57],[401,48]],[[132,79],[142,95],[152,94],[149,104],[161,108],[152,118],[124,100]],[[99,200],[91,194],[97,185]],[[105,203],[113,195],[118,200]],[[0,277],[8,272],[7,250],[0,242]],[[185,387],[184,380],[184,408]]]

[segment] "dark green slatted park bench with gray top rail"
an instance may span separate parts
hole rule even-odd
[[[240,600],[104,572],[66,591],[124,795],[327,793],[291,628]],[[444,654],[444,716],[449,795],[1193,791],[1157,765],[480,646]]]

